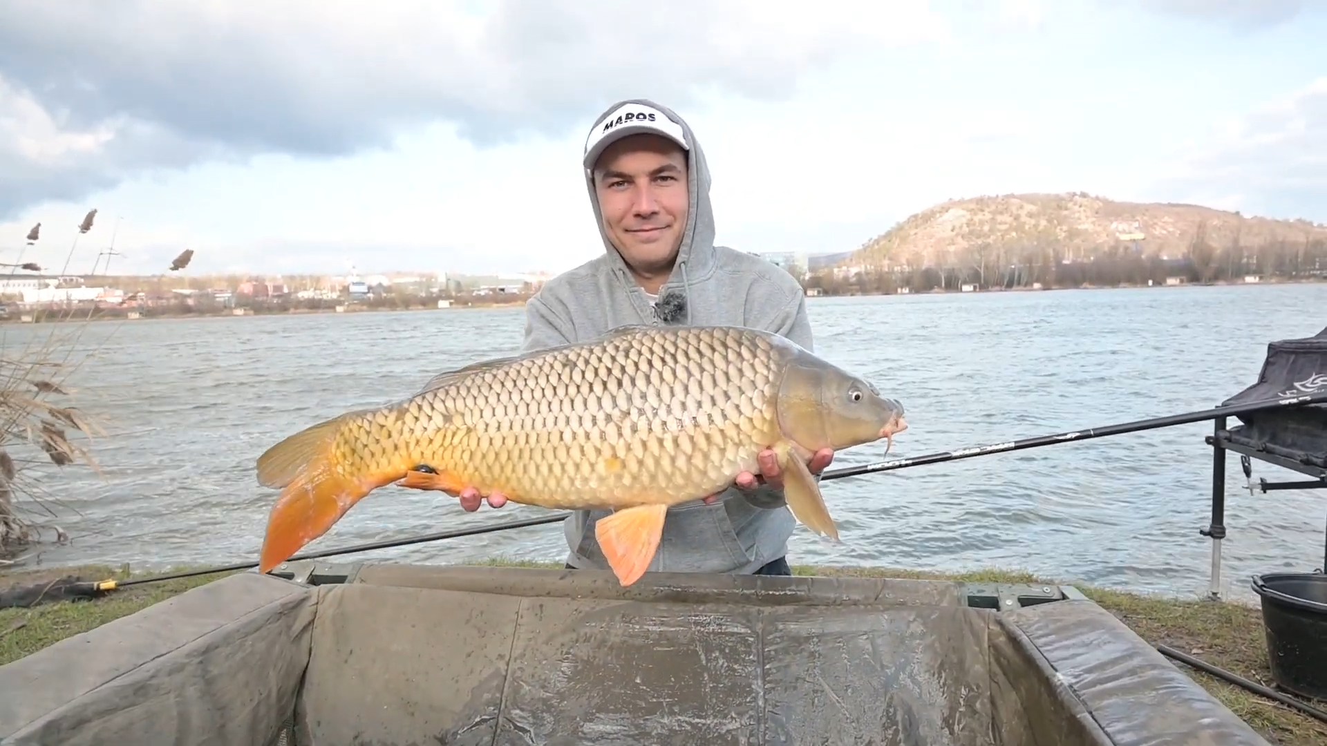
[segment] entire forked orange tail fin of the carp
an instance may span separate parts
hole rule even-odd
[[[358,473],[338,454],[337,439],[364,413],[352,411],[301,430],[257,459],[257,481],[280,487],[267,519],[259,572],[269,572],[301,547],[326,534],[365,495],[395,482],[405,469],[356,459]]]

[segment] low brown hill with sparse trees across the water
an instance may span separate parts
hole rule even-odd
[[[867,242],[845,264],[954,269],[990,279],[1010,265],[1188,260],[1200,279],[1327,268],[1327,226],[1197,204],[1115,202],[1084,192],[955,199]],[[1306,265],[1307,261],[1307,265]]]

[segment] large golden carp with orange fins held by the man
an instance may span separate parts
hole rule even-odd
[[[612,508],[594,523],[622,585],[645,572],[670,506],[759,473],[772,449],[794,516],[839,539],[807,469],[816,450],[889,439],[904,408],[786,337],[739,327],[618,327],[598,341],[476,362],[415,396],[349,411],[268,449],[281,494],[259,572],[391,483],[547,508]],[[888,449],[886,449],[888,451]]]

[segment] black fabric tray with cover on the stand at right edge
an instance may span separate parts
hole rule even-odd
[[[1258,381],[1222,406],[1327,390],[1327,328],[1312,337],[1267,345]],[[1327,467],[1327,405],[1281,408],[1238,415],[1230,442],[1308,466]]]

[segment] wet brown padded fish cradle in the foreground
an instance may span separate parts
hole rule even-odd
[[[1095,603],[961,588],[242,573],[0,668],[0,743],[1267,746]]]

